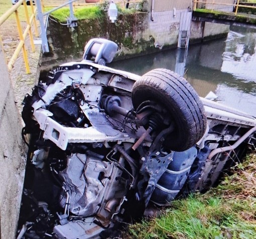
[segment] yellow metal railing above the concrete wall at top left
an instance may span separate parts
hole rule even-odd
[[[25,17],[27,21],[27,26],[22,32],[22,24],[21,20],[19,17],[19,12],[18,10],[21,9],[21,5],[23,4],[24,10],[25,10]],[[23,51],[23,58],[25,62],[25,67],[26,67],[26,72],[30,73],[30,67],[29,67],[29,60],[28,60],[28,54],[27,54],[27,48],[25,45],[25,40],[27,38],[27,35],[29,34],[30,36],[30,44],[32,51],[35,51],[35,45],[34,45],[34,40],[33,40],[33,32],[31,26],[34,24],[35,26],[35,35],[38,36],[38,30],[37,30],[37,21],[36,21],[36,11],[37,8],[33,5],[33,1],[30,0],[30,7],[31,7],[31,16],[29,16],[29,11],[28,11],[29,5],[27,5],[26,0],[19,0],[15,5],[13,5],[8,11],[6,11],[1,17],[0,17],[0,26],[6,22],[6,20],[14,13],[15,18],[16,18],[16,23],[17,23],[17,28],[18,28],[18,33],[19,33],[19,38],[20,41],[11,57],[11,59],[8,62],[8,69],[9,71],[12,70],[14,67],[14,63],[17,60],[21,50]],[[0,37],[1,44],[3,44],[3,41]]]

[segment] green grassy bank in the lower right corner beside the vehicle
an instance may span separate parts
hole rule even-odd
[[[123,238],[256,238],[256,155],[205,194],[172,202],[162,216],[130,226]]]

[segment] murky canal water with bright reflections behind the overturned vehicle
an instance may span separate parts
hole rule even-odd
[[[110,67],[144,74],[168,68],[184,76],[205,97],[256,116],[256,29],[230,26],[227,37],[184,49],[112,62]]]

